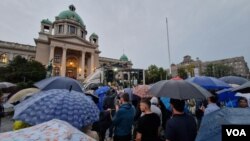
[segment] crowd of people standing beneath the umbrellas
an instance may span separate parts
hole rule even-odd
[[[221,108],[216,96],[205,101],[170,99],[170,105],[166,108],[157,97],[132,99],[111,88],[92,130],[100,141],[194,141],[202,117]],[[247,108],[247,99],[240,97],[238,107]]]

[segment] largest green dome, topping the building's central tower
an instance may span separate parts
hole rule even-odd
[[[69,10],[62,11],[58,16],[57,19],[71,19],[75,20],[76,22],[80,23],[84,26],[82,18],[75,12],[76,8],[74,5],[69,6]]]

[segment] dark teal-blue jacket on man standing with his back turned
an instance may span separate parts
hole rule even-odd
[[[130,135],[135,116],[135,108],[132,104],[122,104],[113,118],[115,136]]]

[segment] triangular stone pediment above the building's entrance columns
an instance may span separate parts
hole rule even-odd
[[[50,37],[50,40],[57,40],[57,41],[65,42],[65,43],[78,44],[82,46],[96,48],[96,46],[91,44],[89,41],[83,40],[76,36],[70,36],[70,37],[69,36],[54,36],[54,37]]]

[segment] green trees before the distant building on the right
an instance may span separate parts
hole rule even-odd
[[[208,64],[205,70],[205,75],[217,78],[233,75],[233,68],[224,64]]]

